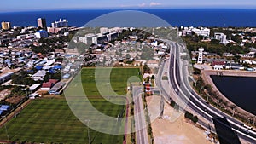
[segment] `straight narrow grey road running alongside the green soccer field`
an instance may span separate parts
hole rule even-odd
[[[145,113],[143,112],[143,88],[134,86],[132,87],[132,97],[134,102],[134,118],[136,130],[136,143],[149,144],[148,129],[146,124]]]

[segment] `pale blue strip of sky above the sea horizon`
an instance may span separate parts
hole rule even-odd
[[[0,12],[40,9],[256,9],[255,0],[3,0]]]

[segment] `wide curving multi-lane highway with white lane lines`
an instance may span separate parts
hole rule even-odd
[[[194,89],[191,88],[188,81],[188,74],[183,73],[185,70],[182,69],[180,60],[180,49],[182,48],[178,43],[172,43],[167,41],[168,47],[170,48],[170,59],[169,59],[169,84],[175,91],[176,95],[180,97],[183,101],[188,102],[188,106],[200,114],[207,121],[212,123],[212,118],[222,117],[227,118],[233,130],[236,131],[237,135],[242,139],[255,143],[256,134],[252,130],[246,133],[246,128],[241,126],[241,122],[237,121],[235,118],[231,118],[224,112],[219,111],[217,108],[208,105],[206,101],[201,99],[200,95],[197,95]],[[182,67],[182,68],[181,68]],[[182,70],[182,71],[181,71]],[[206,125],[206,124],[205,124]],[[207,126],[207,125],[206,125]]]

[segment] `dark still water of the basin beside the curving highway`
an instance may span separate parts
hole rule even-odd
[[[218,90],[230,101],[256,115],[256,78],[211,76]]]

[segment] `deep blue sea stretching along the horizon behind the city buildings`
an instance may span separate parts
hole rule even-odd
[[[159,16],[172,26],[251,26],[256,27],[256,9],[139,9]],[[69,26],[84,26],[102,14],[119,11],[117,9],[51,10],[31,12],[0,13],[0,21],[10,21],[12,26],[37,26],[39,17],[46,18],[47,26],[62,19]]]

